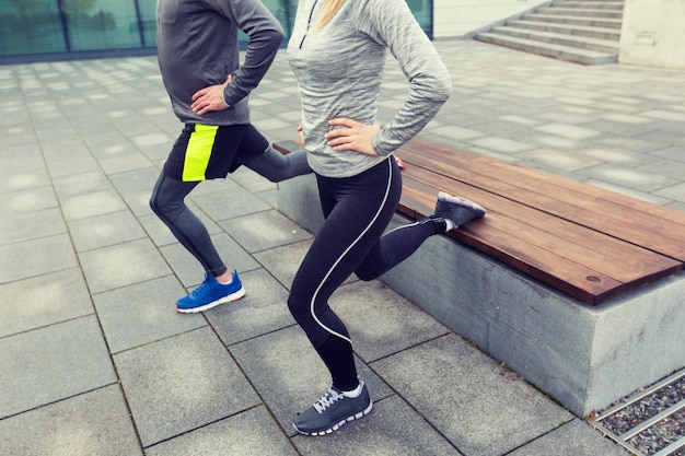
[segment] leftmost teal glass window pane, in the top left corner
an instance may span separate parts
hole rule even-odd
[[[0,55],[59,52],[66,49],[54,0],[0,0]]]

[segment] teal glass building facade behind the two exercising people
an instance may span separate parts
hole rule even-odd
[[[432,0],[406,0],[432,37]],[[297,0],[263,0],[290,35]],[[156,0],[0,0],[0,63],[151,55]],[[246,43],[246,37],[243,36]]]

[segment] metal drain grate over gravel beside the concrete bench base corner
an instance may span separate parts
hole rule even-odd
[[[685,371],[588,418],[626,449],[643,456],[685,456]]]

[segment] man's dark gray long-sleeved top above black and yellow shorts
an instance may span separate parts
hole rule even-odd
[[[249,122],[247,95],[276,57],[283,30],[258,0],[158,0],[158,58],[164,86],[184,124]],[[240,63],[237,32],[249,37]],[[232,74],[223,100],[229,109],[199,116],[190,104],[195,92],[222,84]]]

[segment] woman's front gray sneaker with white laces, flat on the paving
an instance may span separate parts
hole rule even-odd
[[[368,414],[371,408],[373,402],[363,382],[361,394],[357,397],[347,397],[332,386],[314,406],[298,414],[292,425],[300,434],[326,435],[337,431],[346,422]]]

